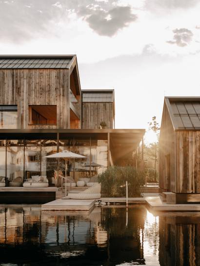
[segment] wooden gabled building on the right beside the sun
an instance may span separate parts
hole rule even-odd
[[[176,203],[200,202],[200,97],[164,99],[159,185]]]

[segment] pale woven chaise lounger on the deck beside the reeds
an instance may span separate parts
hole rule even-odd
[[[100,199],[100,187],[100,184],[96,184],[79,193],[69,192],[67,198],[76,200]]]

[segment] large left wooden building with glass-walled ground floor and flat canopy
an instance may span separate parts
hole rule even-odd
[[[0,84],[0,175],[8,180],[39,174],[52,185],[63,162],[44,156],[63,149],[100,164],[97,173],[133,161],[145,130],[113,129],[114,90],[81,91],[76,56],[1,56]],[[97,174],[83,161],[68,170],[77,179]]]

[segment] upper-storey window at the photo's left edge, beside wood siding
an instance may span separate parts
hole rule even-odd
[[[0,128],[17,128],[17,105],[0,105]]]

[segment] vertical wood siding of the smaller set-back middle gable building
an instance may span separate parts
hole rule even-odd
[[[101,122],[107,124],[106,128],[113,128],[113,103],[112,102],[83,102],[82,103],[82,128],[95,129]]]

